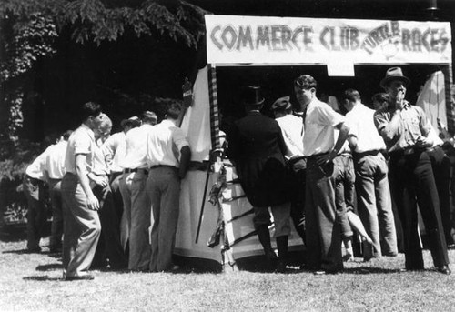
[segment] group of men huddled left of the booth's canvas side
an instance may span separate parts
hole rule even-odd
[[[191,155],[177,126],[181,105],[171,103],[159,124],[150,111],[123,120],[123,131],[112,136],[101,106],[81,108],[81,126],[26,169],[28,250],[41,250],[47,182],[53,194],[49,248],[62,251],[66,280],[93,279],[90,267],[175,270],[180,180]]]

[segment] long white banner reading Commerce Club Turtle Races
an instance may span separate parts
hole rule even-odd
[[[451,63],[449,22],[205,17],[209,64]]]

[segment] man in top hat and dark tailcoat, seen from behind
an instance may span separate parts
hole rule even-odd
[[[260,113],[264,103],[260,87],[246,87],[242,97],[247,116],[232,126],[227,139],[227,155],[235,162],[240,184],[254,208],[254,226],[270,268],[275,266],[277,257],[268,232],[268,207],[271,207],[279,256],[277,270],[284,272],[290,233],[289,189],[284,160],[286,144],[277,121]]]

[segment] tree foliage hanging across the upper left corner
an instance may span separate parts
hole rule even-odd
[[[1,1],[2,136],[17,140],[23,123],[23,82],[36,61],[56,55],[56,39],[62,32],[81,45],[115,42],[127,32],[137,37],[167,36],[196,50],[204,35],[206,13],[183,0]]]

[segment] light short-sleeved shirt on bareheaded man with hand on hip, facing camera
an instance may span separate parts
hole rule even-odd
[[[305,156],[329,152],[335,145],[335,126],[344,123],[345,117],[328,104],[313,99],[307,107],[303,149]]]

